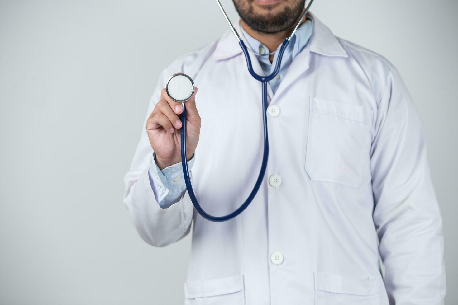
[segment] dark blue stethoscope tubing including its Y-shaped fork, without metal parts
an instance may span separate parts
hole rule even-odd
[[[269,139],[268,139],[268,133],[267,133],[267,82],[269,80],[272,80],[278,74],[278,71],[280,70],[280,63],[283,58],[283,53],[288,43],[289,43],[288,39],[285,39],[284,42],[282,43],[282,46],[280,47],[280,50],[277,56],[277,62],[275,64],[275,69],[273,70],[273,72],[270,75],[262,76],[262,75],[257,75],[256,72],[253,70],[253,67],[251,65],[250,54],[248,53],[248,50],[243,40],[240,40],[239,42],[240,47],[242,48],[243,54],[245,54],[248,71],[250,72],[251,76],[253,76],[256,80],[261,81],[262,123],[263,123],[263,131],[264,131],[264,153],[262,154],[261,170],[259,171],[259,176],[257,177],[253,190],[251,191],[250,195],[245,200],[245,202],[242,203],[242,205],[240,205],[238,209],[236,209],[234,212],[230,214],[227,214],[224,216],[210,215],[202,209],[199,202],[197,201],[196,194],[194,193],[194,190],[192,188],[191,178],[189,176],[188,161],[186,157],[187,156],[186,154],[186,107],[184,103],[182,103],[183,112],[181,113],[181,123],[183,124],[183,126],[181,127],[181,164],[183,165],[183,177],[185,178],[186,188],[188,189],[189,198],[191,199],[192,204],[196,208],[196,211],[199,214],[201,214],[203,218],[207,220],[214,221],[214,222],[222,222],[222,221],[226,221],[226,220],[236,217],[250,205],[251,201],[253,201],[253,199],[255,198],[256,193],[259,190],[259,187],[261,187],[262,180],[264,179],[264,175],[267,169],[267,161],[269,159]]]

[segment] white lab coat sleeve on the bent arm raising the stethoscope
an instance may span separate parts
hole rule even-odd
[[[169,70],[176,70],[176,68]],[[153,150],[146,132],[146,120],[160,100],[160,91],[167,81],[166,75],[172,73],[174,72],[164,70],[159,77],[158,85],[148,106],[147,116],[143,121],[140,141],[131,168],[124,177],[124,203],[142,239],[153,246],[167,246],[187,235],[191,228],[194,210],[187,191],[176,203],[168,208],[161,208],[153,192],[152,177],[149,173]]]

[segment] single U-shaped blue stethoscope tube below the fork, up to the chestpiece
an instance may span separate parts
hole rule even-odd
[[[259,190],[259,187],[261,187],[267,169],[267,160],[269,158],[269,139],[267,137],[267,82],[265,81],[262,82],[262,101],[262,122],[264,126],[264,153],[262,155],[261,170],[259,171],[259,176],[256,180],[256,184],[253,187],[253,190],[251,191],[248,198],[245,200],[245,202],[242,203],[242,205],[240,205],[240,207],[236,209],[234,212],[224,216],[213,216],[207,214],[200,206],[199,202],[197,201],[196,195],[194,194],[194,190],[192,189],[191,178],[189,176],[188,161],[186,157],[186,107],[183,104],[183,113],[181,113],[181,123],[183,124],[183,126],[181,127],[181,164],[183,165],[183,176],[185,177],[186,188],[188,189],[188,195],[191,199],[192,204],[196,208],[196,211],[207,220],[222,222],[232,219],[235,216],[239,215],[248,207],[248,205],[250,205],[251,201],[253,201],[253,199],[255,198],[256,193]]]

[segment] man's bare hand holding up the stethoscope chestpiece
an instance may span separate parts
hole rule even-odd
[[[201,127],[201,118],[196,108],[197,87],[191,98],[185,102],[186,107],[186,150],[187,160],[194,155]],[[149,142],[156,153],[156,164],[162,170],[167,166],[181,162],[179,115],[183,112],[181,103],[172,100],[165,91],[161,91],[161,100],[154,107],[146,122]]]

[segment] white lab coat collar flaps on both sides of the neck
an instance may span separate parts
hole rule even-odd
[[[313,20],[313,32],[310,40],[308,41],[310,51],[325,56],[348,57],[347,52],[344,50],[331,30],[310,11],[307,15]],[[241,32],[240,22],[237,22],[235,27],[238,32]],[[218,40],[215,52],[213,53],[213,59],[229,59],[241,53],[242,50],[240,49],[237,40],[234,38],[234,34],[228,30]]]

